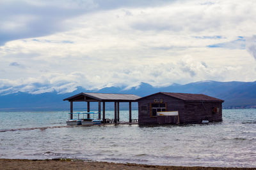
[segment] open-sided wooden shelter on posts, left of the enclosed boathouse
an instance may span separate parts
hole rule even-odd
[[[63,99],[63,101],[70,102],[70,119],[73,118],[73,102],[87,102],[87,111],[90,112],[90,102],[98,102],[99,103],[99,119],[101,118],[101,103],[103,104],[102,109],[102,120],[106,122],[105,118],[105,103],[113,102],[115,103],[115,119],[114,122],[119,122],[119,103],[120,102],[129,102],[129,122],[132,122],[132,102],[136,102],[136,99],[139,99],[140,96],[136,96],[134,94],[105,94],[105,93],[80,93],[75,96],[68,97]],[[90,115],[88,114],[88,118]]]

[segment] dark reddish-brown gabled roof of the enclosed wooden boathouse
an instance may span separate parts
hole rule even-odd
[[[220,102],[224,102],[221,99],[217,99],[215,97],[211,97],[211,96],[206,96],[204,94],[188,94],[188,93],[170,93],[170,92],[158,92],[156,94],[164,94],[166,96],[171,96],[171,97],[175,97],[177,99],[181,99],[182,101],[220,101]],[[155,94],[151,94],[149,96],[153,96]],[[145,97],[149,97],[149,96],[145,96]],[[140,99],[144,99],[145,97],[141,97]],[[140,101],[140,99],[138,99],[137,101]]]

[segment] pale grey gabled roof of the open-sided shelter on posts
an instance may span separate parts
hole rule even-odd
[[[63,101],[136,101],[140,96],[134,94],[80,93]]]

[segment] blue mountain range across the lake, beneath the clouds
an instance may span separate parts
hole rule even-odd
[[[99,90],[86,90],[83,87],[77,87],[73,92],[65,94],[58,94],[55,91],[42,94],[16,92],[0,96],[0,111],[68,110],[69,103],[63,101],[63,99],[80,92],[136,94],[141,97],[156,92],[205,94],[225,100],[223,108],[256,108],[256,81],[198,81],[186,85],[174,83],[167,87],[153,87],[148,83],[141,83],[138,87],[129,89],[125,87],[106,87]],[[81,108],[85,105],[84,103],[77,104]],[[96,107],[97,104],[94,105]],[[111,109],[111,106],[109,109]]]

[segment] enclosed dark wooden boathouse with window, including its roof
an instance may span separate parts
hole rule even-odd
[[[204,94],[158,92],[136,101],[138,101],[140,125],[198,124],[203,120],[207,122],[222,120],[224,101]]]

